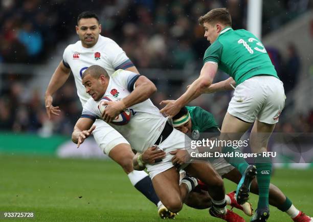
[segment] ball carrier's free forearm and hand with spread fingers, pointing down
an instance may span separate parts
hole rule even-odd
[[[72,133],[72,141],[77,144],[77,148],[92,134],[96,128],[96,126],[93,125],[94,122],[94,120],[84,117],[78,119],[76,122]]]

